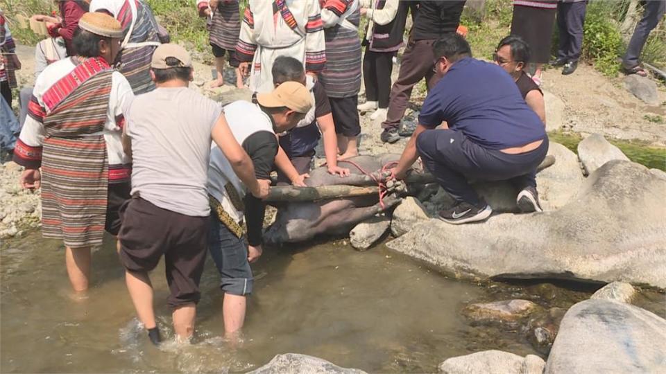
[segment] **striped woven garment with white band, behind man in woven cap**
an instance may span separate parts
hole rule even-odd
[[[91,12],[111,15],[123,26],[124,37],[118,60],[119,71],[132,85],[134,94],[155,89],[151,79],[151,58],[160,45],[159,29],[153,10],[145,0],[92,0]],[[110,61],[113,64],[114,61]]]

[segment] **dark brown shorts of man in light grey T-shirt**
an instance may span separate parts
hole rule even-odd
[[[120,210],[120,260],[128,271],[151,271],[164,255],[169,306],[198,303],[208,217],[191,217],[133,197]]]

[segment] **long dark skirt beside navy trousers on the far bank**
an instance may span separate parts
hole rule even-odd
[[[511,35],[518,35],[529,44],[529,62],[545,64],[550,60],[550,46],[556,9],[513,6]]]

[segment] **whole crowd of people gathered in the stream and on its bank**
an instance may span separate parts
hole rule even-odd
[[[624,59],[627,73],[644,73],[640,48],[663,17],[665,1],[648,2]],[[541,70],[556,14],[553,64],[564,74],[576,69],[586,1],[515,0],[511,35],[493,62],[472,57],[460,27],[464,5],[250,0],[241,20],[237,0],[198,0],[192,11],[207,18],[215,57],[210,86],[224,84],[228,61],[236,85],[248,78],[254,92],[251,101],[221,105],[188,88],[191,56],[168,42],[145,0],[58,1],[58,17],[34,17],[50,37],[35,48],[35,82],[21,91],[20,123],[3,120],[0,140],[25,168],[22,186],[41,188],[42,233],[65,243],[75,291],[89,287],[91,249],[107,231],[155,344],[161,337],[148,272],[164,258],[174,330],[187,341],[210,252],[225,333],[234,337],[253,291],[249,264],[262,254],[271,172],[278,184],[304,186],[322,140],[328,171],[349,175],[338,161],[359,152],[359,112],[383,120],[382,141],[398,141],[411,91],[423,79],[429,92],[391,178],[406,177],[420,158],[455,200],[439,213],[451,224],[486,220],[493,211],[470,178],[509,180],[521,211],[541,211],[535,173],[548,150]],[[362,38],[361,17],[368,19]],[[0,26],[0,118],[9,118],[21,65],[1,14]],[[391,86],[393,58],[405,44]],[[6,140],[19,130],[18,139]]]

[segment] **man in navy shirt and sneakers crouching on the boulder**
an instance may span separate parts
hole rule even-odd
[[[418,127],[392,176],[403,179],[421,157],[456,200],[452,208],[439,212],[441,220],[451,224],[486,220],[493,213],[468,178],[508,179],[518,191],[522,212],[542,211],[535,176],[548,151],[543,122],[522,99],[511,76],[495,64],[472,58],[460,35],[446,35],[433,50],[434,69],[442,78],[425,99]],[[440,125],[445,128],[435,129]]]

